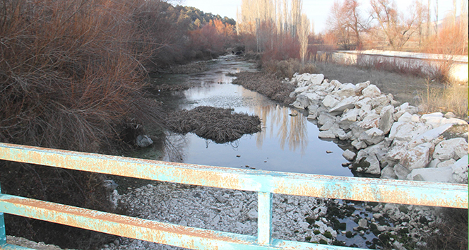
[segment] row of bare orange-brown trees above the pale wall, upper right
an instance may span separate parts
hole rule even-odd
[[[395,0],[370,0],[369,9],[362,8],[357,0],[336,1],[322,42],[335,49],[468,54],[467,1],[461,1],[461,6],[456,2],[451,13],[439,22],[438,1],[412,1],[405,11]]]

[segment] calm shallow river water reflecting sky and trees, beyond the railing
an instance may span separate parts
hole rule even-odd
[[[239,61],[235,56],[222,56],[208,63],[208,71],[189,75],[163,75],[153,84],[180,84],[191,88],[162,94],[158,100],[174,109],[193,109],[197,106],[232,108],[235,112],[256,114],[261,118],[262,131],[244,135],[233,143],[217,144],[193,133],[173,134],[161,158],[148,149],[143,157],[158,160],[243,167],[282,172],[352,176],[340,143],[318,138],[319,129],[297,109],[279,105],[268,97],[234,85],[228,73],[255,71],[253,64]]]

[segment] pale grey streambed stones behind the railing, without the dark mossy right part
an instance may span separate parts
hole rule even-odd
[[[189,227],[257,235],[257,193],[158,182],[112,196],[116,206],[131,216]],[[275,239],[331,244],[337,232],[323,218],[326,200],[304,196],[273,196]],[[312,209],[311,209],[312,208]],[[307,220],[310,218],[312,220]],[[319,234],[314,234],[314,230]],[[109,249],[180,249],[134,239],[120,239],[103,246]]]

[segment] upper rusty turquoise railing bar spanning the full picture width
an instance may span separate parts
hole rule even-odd
[[[224,189],[468,208],[468,185],[211,167],[0,143],[0,160]]]

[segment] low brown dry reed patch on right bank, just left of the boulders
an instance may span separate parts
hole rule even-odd
[[[259,92],[285,105],[295,102],[295,98],[290,97],[290,93],[295,90],[295,87],[282,83],[278,78],[268,73],[240,72],[236,76],[233,84],[242,85],[244,88]]]

